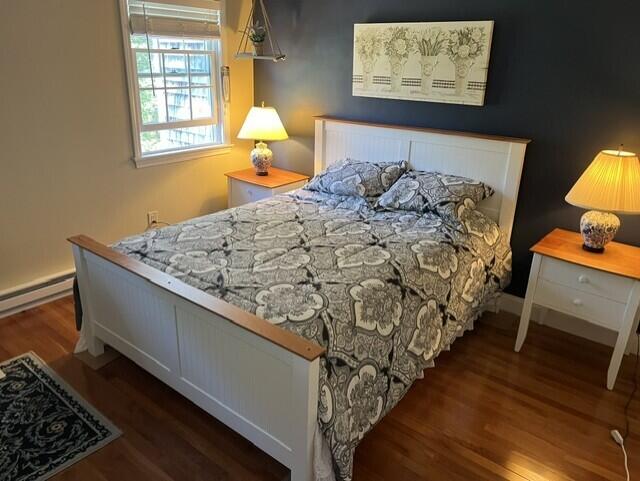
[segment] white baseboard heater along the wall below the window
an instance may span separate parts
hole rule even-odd
[[[74,276],[74,270],[60,272],[0,292],[0,318],[71,294]]]

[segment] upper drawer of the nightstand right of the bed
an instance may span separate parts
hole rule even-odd
[[[633,284],[633,279],[551,257],[543,258],[540,277],[555,284],[624,303],[627,302]]]

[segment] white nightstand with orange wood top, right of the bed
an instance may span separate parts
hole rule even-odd
[[[582,249],[582,237],[556,229],[531,248],[529,274],[515,350],[522,348],[533,304],[618,332],[607,388],[613,389],[640,305],[640,248],[618,242],[603,254]]]

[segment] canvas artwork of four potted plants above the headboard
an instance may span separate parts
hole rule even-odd
[[[354,25],[353,95],[484,105],[493,21]]]

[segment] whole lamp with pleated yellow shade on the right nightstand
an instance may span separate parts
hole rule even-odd
[[[640,214],[640,161],[632,152],[603,150],[569,191],[565,200],[593,209],[580,220],[583,248],[604,252],[620,228],[615,214]]]

